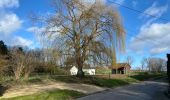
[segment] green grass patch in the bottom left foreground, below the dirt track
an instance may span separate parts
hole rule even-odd
[[[53,90],[1,100],[72,100],[83,95],[83,93],[72,90]]]

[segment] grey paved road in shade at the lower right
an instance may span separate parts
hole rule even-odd
[[[78,100],[170,100],[164,95],[167,86],[163,80],[146,81],[92,94]]]

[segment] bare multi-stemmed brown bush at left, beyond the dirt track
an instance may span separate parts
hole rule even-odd
[[[31,72],[34,71],[38,58],[34,51],[23,51],[22,48],[13,48],[11,50],[10,63],[16,80],[22,76],[28,79]]]

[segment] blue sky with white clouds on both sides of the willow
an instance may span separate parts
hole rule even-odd
[[[87,0],[91,1],[91,0]],[[140,66],[144,57],[166,59],[170,52],[170,1],[169,0],[102,0],[107,5],[114,1],[132,9],[140,10],[156,17],[137,13],[115,5],[122,16],[126,30],[126,53],[119,54],[120,62],[126,56],[134,59],[133,67]],[[0,40],[7,45],[22,45],[39,48],[36,34],[38,29],[30,22],[29,15],[47,14],[53,11],[50,0],[0,0]],[[166,20],[162,20],[166,19]]]

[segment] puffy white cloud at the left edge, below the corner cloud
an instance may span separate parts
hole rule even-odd
[[[14,13],[0,14],[0,34],[9,35],[21,27],[22,21]]]

